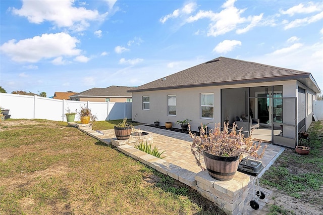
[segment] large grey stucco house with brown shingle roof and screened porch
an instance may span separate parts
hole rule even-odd
[[[227,120],[247,136],[254,128],[254,139],[294,148],[312,121],[320,89],[308,72],[219,57],[128,92],[139,122],[159,119],[177,127],[188,118],[198,131],[200,123],[214,127]]]

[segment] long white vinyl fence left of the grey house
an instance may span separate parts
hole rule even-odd
[[[80,111],[81,105],[91,109],[98,121],[132,118],[132,102],[70,101],[36,95],[0,93],[0,106],[10,110],[11,119],[66,121],[66,110],[69,108],[71,112]],[[78,115],[75,120],[79,120]]]

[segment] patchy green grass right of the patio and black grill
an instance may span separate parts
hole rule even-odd
[[[319,203],[321,200],[315,192],[321,192],[323,186],[322,123],[313,122],[308,132],[310,153],[299,155],[294,149],[286,149],[275,164],[263,174],[260,182],[295,198],[306,198],[311,203]]]

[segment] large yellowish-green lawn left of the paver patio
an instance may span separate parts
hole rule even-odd
[[[0,160],[0,214],[223,214],[190,187],[63,122],[0,123]]]

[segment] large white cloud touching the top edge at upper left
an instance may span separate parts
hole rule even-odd
[[[101,21],[107,16],[107,13],[100,15],[97,10],[77,8],[74,0],[23,0],[21,9],[11,10],[15,15],[27,17],[31,23],[49,21],[58,27],[68,27],[76,31],[85,30],[89,21]]]

